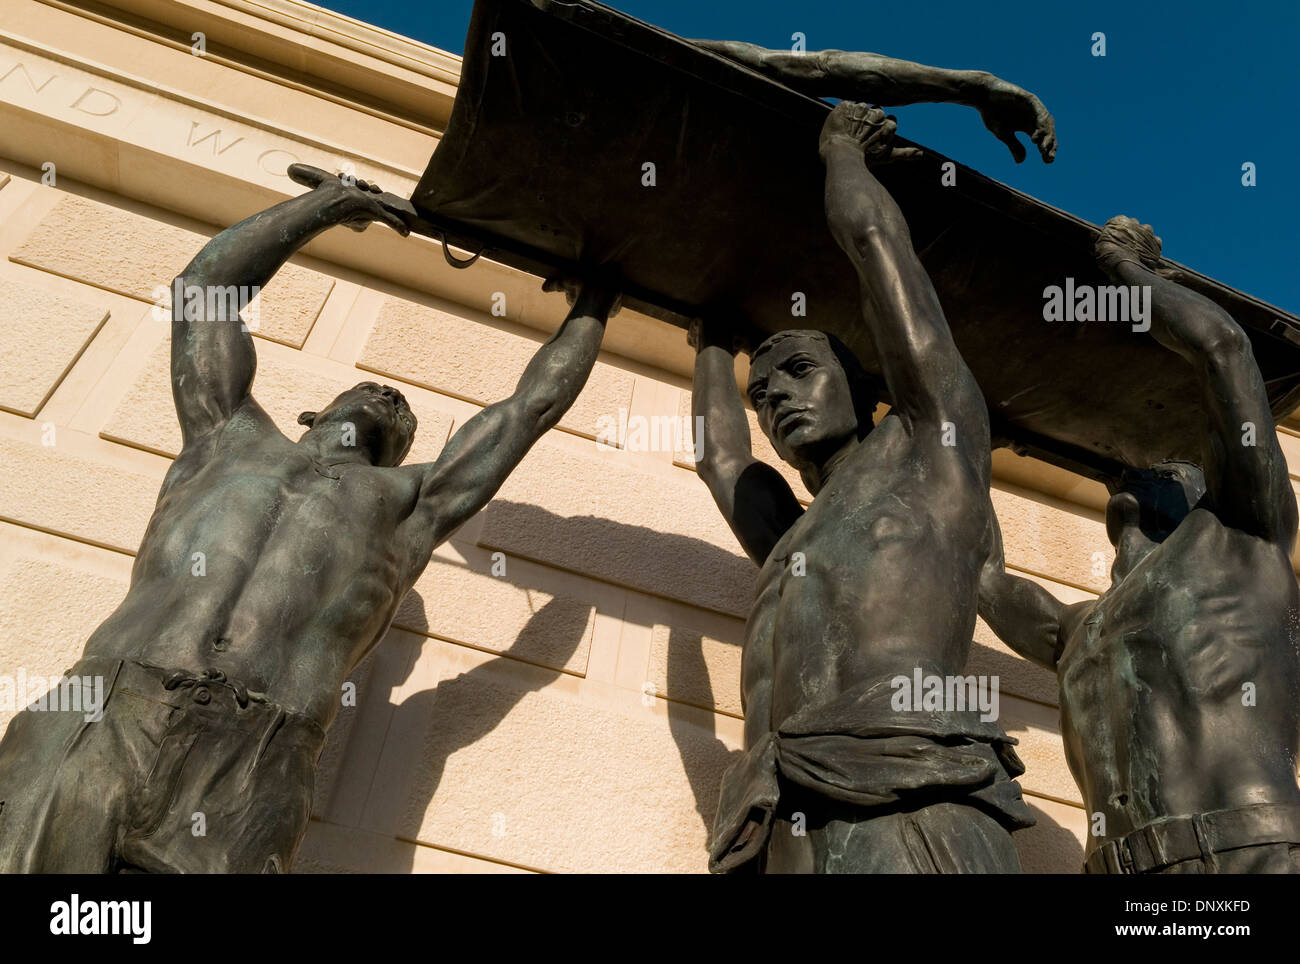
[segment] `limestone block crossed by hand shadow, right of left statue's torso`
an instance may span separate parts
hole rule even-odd
[[[436,556],[402,600],[394,625],[584,676],[595,605]]]

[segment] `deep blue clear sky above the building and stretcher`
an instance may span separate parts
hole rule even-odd
[[[471,0],[330,0],[462,53]],[[900,134],[1101,223],[1154,225],[1165,253],[1300,313],[1300,3],[1295,0],[615,0],[682,36],[864,49],[979,68],[1056,116],[1056,164],[1017,165],[979,116],[901,109]],[[1093,57],[1092,35],[1106,35]],[[1242,165],[1257,184],[1242,186]]]

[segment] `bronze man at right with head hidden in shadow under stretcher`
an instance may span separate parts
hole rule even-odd
[[[1196,372],[1200,464],[1113,481],[1096,602],[1008,573],[998,538],[980,615],[1057,673],[1088,872],[1297,873],[1296,499],[1264,379],[1238,323],[1165,277],[1149,225],[1112,218],[1096,247],[1117,285],[1150,290],[1152,336]]]

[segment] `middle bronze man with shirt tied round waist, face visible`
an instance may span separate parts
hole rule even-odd
[[[1031,825],[1013,739],[896,681],[961,673],[991,550],[988,412],[907,225],[867,160],[894,123],[841,101],[820,138],[826,216],[858,274],[892,399],[838,339],[785,331],[751,356],[763,433],[814,500],[750,453],[729,334],[696,331],[699,474],[762,566],[746,625],[745,754],[723,782],[716,872],[1018,872]]]

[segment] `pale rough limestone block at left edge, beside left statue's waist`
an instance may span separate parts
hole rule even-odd
[[[86,639],[126,595],[126,578],[43,559],[18,557],[0,569],[0,673],[57,678],[82,653]],[[44,687],[42,687],[44,689]],[[39,694],[34,694],[39,695]],[[26,705],[0,707],[0,731]]]

